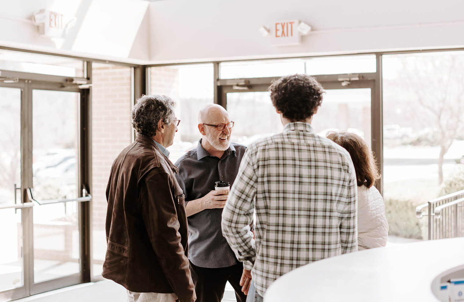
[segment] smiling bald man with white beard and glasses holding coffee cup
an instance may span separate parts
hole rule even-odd
[[[186,200],[188,259],[197,302],[220,302],[227,281],[235,290],[237,302],[246,300],[240,286],[243,265],[221,232],[228,191],[214,190],[219,180],[233,185],[245,154],[245,146],[230,142],[233,125],[223,107],[206,105],[198,114],[201,139],[197,148],[175,163],[179,168],[176,178]]]

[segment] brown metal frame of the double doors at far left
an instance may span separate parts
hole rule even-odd
[[[88,64],[89,65],[89,64]],[[91,68],[91,66],[90,66]],[[17,73],[11,71],[1,71],[2,76],[14,78],[15,76],[25,77],[26,79],[16,78],[16,83],[0,82],[0,87],[19,88],[21,89],[21,201],[18,208],[21,208],[21,219],[23,225],[23,278],[24,285],[12,290],[0,292],[0,300],[10,301],[26,296],[42,293],[49,290],[55,290],[65,286],[90,282],[91,276],[91,250],[90,250],[90,211],[91,202],[78,203],[78,230],[80,243],[80,272],[65,277],[46,280],[34,283],[34,250],[33,250],[33,207],[34,204],[31,195],[28,194],[28,188],[32,188],[32,91],[49,90],[79,92],[80,100],[77,110],[77,186],[83,188],[78,190],[78,197],[81,200],[91,200],[91,100],[88,84],[82,79],[76,83],[69,77],[41,75],[42,80],[38,80],[37,74]],[[80,85],[83,85],[80,86]],[[79,87],[80,86],[80,87]],[[84,190],[85,189],[85,190]],[[84,196],[85,195],[85,196]],[[86,198],[82,198],[86,197]],[[77,198],[79,199],[79,198]],[[60,201],[66,202],[66,201]],[[28,203],[31,206],[24,207]],[[1,210],[1,209],[0,209]]]

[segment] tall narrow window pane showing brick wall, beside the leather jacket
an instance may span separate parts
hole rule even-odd
[[[101,275],[106,253],[106,184],[116,155],[132,140],[131,68],[92,64],[92,273]]]

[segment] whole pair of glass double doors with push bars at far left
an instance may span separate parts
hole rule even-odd
[[[77,86],[0,83],[0,301],[85,280],[83,102]]]

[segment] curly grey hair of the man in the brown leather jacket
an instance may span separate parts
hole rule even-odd
[[[132,127],[137,133],[155,136],[159,120],[173,122],[174,107],[175,102],[165,95],[142,95],[130,112]]]

